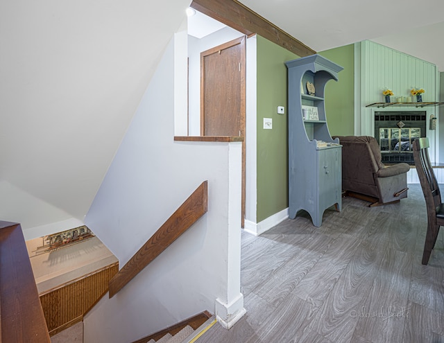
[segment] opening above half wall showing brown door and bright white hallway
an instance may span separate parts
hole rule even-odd
[[[244,137],[241,227],[246,213],[246,36],[196,11],[188,18],[189,136]]]

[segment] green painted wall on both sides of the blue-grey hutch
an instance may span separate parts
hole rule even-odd
[[[344,67],[339,82],[325,89],[325,111],[330,134],[354,133],[354,47],[342,46],[319,53]],[[288,207],[287,67],[299,58],[264,37],[257,36],[257,222]],[[285,106],[285,114],[277,107]],[[264,118],[273,129],[264,130]]]

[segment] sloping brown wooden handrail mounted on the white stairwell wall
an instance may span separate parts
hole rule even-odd
[[[164,225],[139,249],[130,261],[110,280],[110,298],[114,297],[144,267],[167,249],[181,234],[207,212],[207,181],[198,186]]]

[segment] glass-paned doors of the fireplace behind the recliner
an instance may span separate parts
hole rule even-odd
[[[411,128],[379,128],[379,147],[381,152],[411,152],[412,143],[421,137],[419,127]]]

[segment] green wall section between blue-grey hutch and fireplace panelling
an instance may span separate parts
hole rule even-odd
[[[339,81],[325,86],[325,113],[332,136],[353,135],[355,121],[355,49],[353,44],[319,52],[343,67]]]

